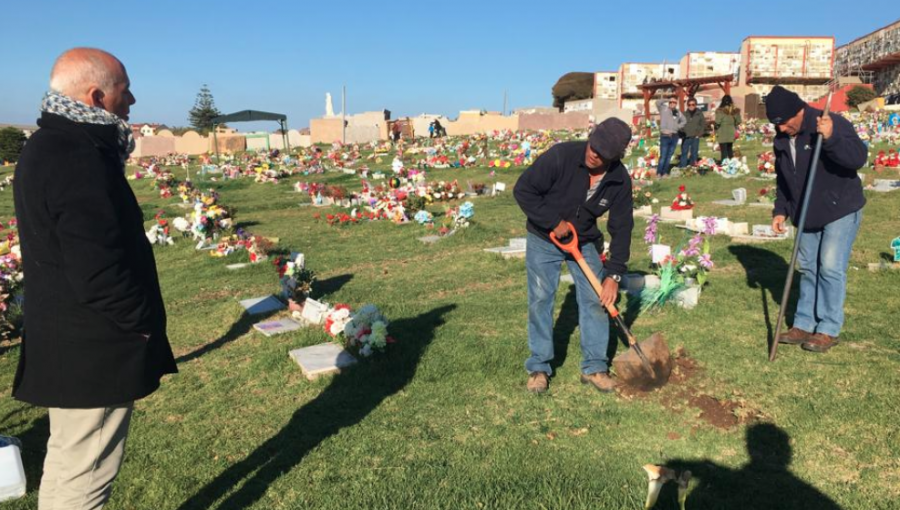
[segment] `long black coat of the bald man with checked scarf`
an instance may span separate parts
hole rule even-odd
[[[178,369],[117,128],[49,113],[38,125],[15,171],[26,302],[13,396],[62,408],[140,399]]]

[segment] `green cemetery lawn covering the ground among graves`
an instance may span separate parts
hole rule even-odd
[[[759,145],[742,149],[753,166]],[[520,172],[498,171],[497,179],[511,189]],[[488,174],[432,170],[429,179],[490,182]],[[201,186],[218,188],[253,232],[304,252],[324,280],[323,299],[377,304],[399,343],[342,375],[309,382],[287,352],[324,341],[324,333],[265,338],[237,303],[277,292],[271,265],[227,271],[229,262],[195,252],[190,242],[156,249],[181,373],[137,404],[109,509],[637,509],[646,491],[641,466],[675,459],[702,477],[688,498],[692,509],[837,508],[825,497],[844,509],[900,508],[900,273],[865,269],[900,235],[900,194],[867,193],[844,344],[827,355],[782,346],[779,359],[767,361],[764,301],[774,322],[789,243],[738,247],[716,237],[716,268],[700,306],[669,307],[634,323],[639,338],[662,331],[699,363],[693,391],[738,402],[789,436],[787,444],[777,434],[754,436],[762,460],[751,463],[747,431],[764,429],[712,427],[680,390],[629,400],[580,385],[574,300],[565,286],[557,301],[566,303],[559,336],[567,347],[558,352],[557,375],[549,394],[525,392],[524,261],[482,251],[525,233],[509,193],[476,199],[472,228],[423,245],[418,225],[315,221],[325,210],[299,207],[295,180]],[[327,180],[358,189],[353,177]],[[768,210],[711,204],[741,186],[753,197],[766,183],[670,179],[657,187],[662,205],[682,183],[695,214],[768,222]],[[147,220],[160,207],[170,217],[183,214],[148,181],[133,186]],[[0,218],[11,215],[7,190]],[[638,219],[633,270],[648,269],[643,227]],[[672,242],[683,235],[672,225],[661,233]],[[0,391],[8,395],[19,349],[4,345],[0,353]],[[7,507],[36,508],[46,413],[5,397],[0,431],[24,440],[29,477],[28,496]],[[671,491],[658,508],[675,508]]]

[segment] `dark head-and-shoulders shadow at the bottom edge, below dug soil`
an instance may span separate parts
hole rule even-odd
[[[666,467],[679,473],[688,470],[693,475],[685,504],[692,510],[841,510],[831,498],[788,469],[792,457],[790,440],[778,426],[759,423],[747,429],[750,463],[740,469],[710,460],[682,459],[668,461]],[[660,501],[670,499],[663,494]],[[663,506],[658,503],[657,508]]]

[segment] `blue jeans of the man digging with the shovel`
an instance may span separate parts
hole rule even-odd
[[[600,298],[591,287],[578,263],[553,243],[529,233],[525,250],[525,268],[528,270],[528,348],[531,357],[525,361],[525,370],[553,373],[553,308],[562,263],[569,265],[575,279],[575,297],[578,301],[578,329],[581,331],[581,372],[593,374],[609,370],[606,348],[609,345],[609,317]],[[581,247],[588,266],[600,281],[605,270],[593,244]]]

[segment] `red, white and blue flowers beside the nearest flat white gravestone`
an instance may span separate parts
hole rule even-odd
[[[329,336],[341,339],[347,348],[358,349],[366,358],[395,343],[388,334],[388,320],[375,305],[353,312],[349,305],[337,304],[326,314],[324,328]]]

